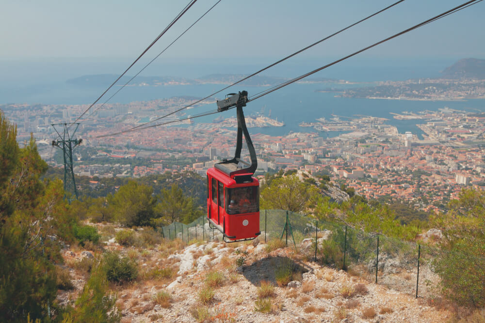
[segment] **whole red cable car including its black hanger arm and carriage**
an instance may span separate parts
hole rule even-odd
[[[248,102],[247,91],[227,94],[217,101],[217,110],[236,107],[238,135],[236,153],[207,170],[207,219],[211,229],[219,230],[225,242],[255,239],[259,231],[259,181],[253,177],[258,160],[246,128],[242,107]],[[251,157],[251,164],[241,159],[242,135]],[[245,167],[245,168],[244,168]]]

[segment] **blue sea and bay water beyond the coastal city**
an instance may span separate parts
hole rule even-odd
[[[421,138],[421,130],[416,126],[421,120],[396,120],[389,112],[436,111],[439,108],[452,108],[467,111],[485,112],[485,100],[463,101],[408,101],[386,99],[342,98],[338,93],[318,92],[325,88],[352,88],[370,86],[372,82],[384,80],[406,80],[426,77],[439,77],[439,72],[450,66],[457,57],[437,58],[373,58],[364,57],[351,62],[335,65],[311,77],[325,77],[358,84],[336,83],[295,83],[278,91],[269,93],[257,100],[250,101],[244,108],[246,115],[261,113],[285,123],[283,127],[251,128],[252,133],[284,136],[291,132],[318,132],[322,137],[335,137],[343,132],[319,132],[311,127],[300,127],[302,122],[315,122],[318,118],[330,119],[332,115],[355,117],[365,115],[387,118],[388,124],[397,127],[400,133],[410,131]],[[274,77],[296,77],[318,68],[332,58],[311,59],[291,62],[290,64],[268,70],[262,75]],[[270,59],[263,60],[271,62]],[[43,59],[43,60],[0,60],[0,105],[9,103],[74,105],[91,104],[109,86],[79,86],[66,80],[84,75],[119,74],[127,62],[96,59]],[[264,65],[263,65],[264,66]],[[136,66],[135,66],[136,67]],[[179,76],[196,78],[208,74],[250,74],[257,71],[261,64],[256,61],[232,63],[207,60],[206,63],[171,62],[158,64],[145,76]],[[134,69],[136,71],[136,68]],[[132,72],[133,75],[135,72]],[[128,73],[127,75],[130,75]],[[113,78],[114,81],[114,78]],[[109,103],[129,103],[170,98],[173,96],[205,97],[224,88],[221,84],[172,85],[159,87],[128,86],[116,94]],[[115,85],[113,91],[119,89]],[[226,93],[246,90],[249,97],[266,90],[267,87],[235,86],[215,95],[223,98]],[[113,92],[108,92],[111,95]],[[104,102],[109,96],[103,97]],[[206,112],[216,108],[207,105],[187,110],[188,115]],[[230,116],[234,110],[223,112]],[[211,122],[220,114],[194,119],[194,122]]]

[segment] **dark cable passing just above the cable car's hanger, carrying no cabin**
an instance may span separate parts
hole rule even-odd
[[[215,94],[217,94],[217,93],[223,92],[224,90],[227,90],[227,89],[228,89],[228,88],[230,88],[231,86],[234,86],[234,85],[236,85],[236,84],[239,84],[239,83],[241,83],[242,81],[245,81],[246,79],[248,79],[248,78],[250,78],[250,77],[253,77],[253,76],[255,76],[255,75],[257,75],[257,74],[259,74],[259,73],[261,73],[261,72],[263,72],[263,71],[265,71],[265,70],[267,70],[267,69],[269,69],[269,68],[271,68],[271,67],[273,67],[273,66],[275,66],[276,64],[279,64],[279,63],[281,63],[281,62],[284,62],[284,61],[288,60],[289,58],[291,58],[291,57],[293,57],[293,56],[295,56],[295,55],[297,55],[297,54],[300,54],[301,52],[303,52],[303,51],[305,51],[305,50],[307,50],[307,49],[309,49],[309,48],[311,48],[311,47],[313,47],[313,46],[316,46],[316,45],[318,45],[318,44],[322,43],[323,41],[325,41],[325,40],[327,40],[327,39],[329,39],[329,38],[331,38],[331,37],[333,37],[333,36],[336,36],[336,35],[337,35],[337,34],[339,34],[340,32],[346,31],[347,29],[349,29],[349,28],[351,28],[351,27],[354,27],[354,26],[356,26],[357,24],[359,24],[359,23],[361,23],[361,22],[363,22],[363,21],[365,21],[365,20],[367,20],[367,19],[370,19],[371,17],[373,17],[373,16],[375,16],[375,15],[378,15],[378,14],[380,14],[380,13],[382,13],[382,12],[384,12],[384,11],[388,10],[389,8],[391,8],[391,7],[395,6],[395,5],[397,5],[397,4],[401,3],[401,2],[403,2],[403,1],[404,1],[404,0],[399,0],[399,1],[397,1],[397,2],[394,2],[393,4],[389,5],[388,7],[384,8],[384,9],[381,9],[381,10],[379,10],[379,11],[377,11],[377,12],[373,13],[372,15],[369,15],[369,16],[367,16],[367,17],[365,17],[365,18],[363,18],[363,19],[361,19],[361,20],[359,20],[359,21],[357,21],[357,22],[353,23],[352,25],[349,25],[349,26],[347,26],[347,27],[345,27],[345,28],[343,28],[343,29],[341,29],[341,30],[337,31],[337,32],[334,32],[333,34],[331,34],[331,35],[329,35],[329,36],[327,36],[327,37],[325,37],[325,38],[322,38],[322,39],[321,39],[321,40],[319,40],[318,42],[315,42],[315,43],[313,43],[313,44],[311,44],[311,45],[308,45],[307,47],[302,48],[302,49],[300,49],[300,50],[298,50],[298,51],[296,51],[296,52],[294,52],[294,53],[292,53],[292,54],[290,54],[290,55],[286,56],[285,58],[282,58],[281,60],[279,60],[279,61],[277,61],[277,62],[274,62],[274,63],[272,63],[272,64],[270,64],[270,65],[268,65],[268,66],[266,66],[266,67],[264,67],[264,68],[260,69],[259,71],[255,72],[255,73],[253,73],[253,74],[251,74],[251,75],[249,75],[249,76],[247,76],[247,77],[243,77],[243,78],[242,78],[242,79],[240,79],[239,81],[234,82],[234,83],[232,83],[231,85],[228,85],[228,86],[226,86],[225,88],[223,88],[223,89],[221,89],[221,90],[219,90],[219,91],[217,91],[217,92],[214,92],[214,93],[212,93],[212,94],[209,94],[208,96],[206,96],[206,97],[204,97],[204,98],[202,98],[202,99],[200,99],[200,100],[197,100],[197,101],[195,101],[195,102],[193,102],[193,103],[189,104],[188,106],[185,106],[185,107],[179,108],[178,110],[175,110],[175,111],[173,111],[173,112],[167,113],[166,115],[163,115],[162,117],[157,118],[157,119],[154,119],[154,120],[149,121],[149,122],[147,122],[147,123],[143,123],[143,124],[137,125],[136,127],[133,127],[133,128],[131,128],[131,129],[128,129],[127,131],[130,131],[130,130],[133,130],[133,129],[137,129],[137,128],[143,127],[143,126],[145,126],[145,125],[147,125],[147,124],[149,124],[149,123],[152,123],[152,122],[155,122],[155,121],[161,120],[161,119],[163,119],[163,118],[166,118],[166,117],[168,117],[168,116],[170,116],[170,115],[172,115],[172,114],[174,114],[174,113],[177,113],[177,112],[179,112],[179,111],[181,111],[181,110],[183,110],[183,109],[190,108],[190,107],[194,106],[195,104],[200,103],[200,102],[202,102],[202,101],[204,101],[204,100],[206,100],[206,99],[210,98],[211,96],[213,96],[213,95],[215,95]]]

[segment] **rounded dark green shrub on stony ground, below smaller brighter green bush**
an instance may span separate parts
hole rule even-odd
[[[116,283],[129,282],[138,277],[136,261],[120,257],[118,252],[107,252],[104,255],[104,270],[108,280]]]

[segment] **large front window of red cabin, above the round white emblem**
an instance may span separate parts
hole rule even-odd
[[[227,214],[242,214],[259,211],[259,187],[226,189]]]

